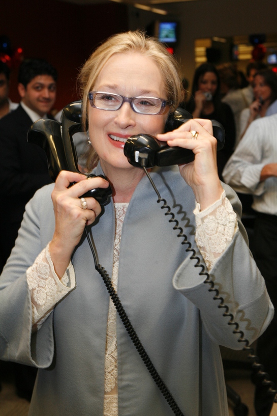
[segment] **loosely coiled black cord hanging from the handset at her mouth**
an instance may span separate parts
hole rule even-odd
[[[158,189],[156,188],[155,184],[152,181],[152,178],[148,174],[145,167],[143,167],[144,172],[147,175],[147,178],[149,179],[152,187],[154,188],[155,192],[158,196],[158,203],[163,202],[163,206],[161,206],[162,209],[167,209],[165,212],[165,215],[171,215],[171,218],[169,218],[169,223],[175,223],[173,230],[179,230],[179,234],[177,237],[183,237],[183,241],[181,244],[187,244],[188,247],[186,248],[186,252],[191,252],[191,259],[196,260],[196,263],[194,267],[200,267],[201,270],[199,271],[200,276],[206,276],[206,279],[203,283],[210,285],[210,288],[208,289],[209,292],[215,292],[213,299],[219,300],[220,303],[218,305],[218,308],[225,309],[223,316],[230,318],[228,321],[228,325],[234,325],[233,334],[239,335],[239,338],[237,339],[237,342],[242,342],[245,345],[243,346],[242,350],[248,351],[249,355],[248,358],[252,360],[252,367],[256,371],[256,374],[258,377],[262,378],[263,385],[268,386],[268,393],[271,395],[275,395],[274,402],[277,403],[277,390],[275,390],[275,384],[273,381],[270,381],[268,378],[268,373],[264,371],[264,366],[260,363],[260,359],[257,355],[255,355],[255,351],[252,347],[250,347],[250,342],[244,337],[244,332],[239,328],[238,322],[234,320],[234,315],[230,312],[229,307],[224,303],[224,298],[220,295],[219,290],[215,287],[214,282],[211,280],[209,273],[206,271],[205,266],[201,263],[200,258],[196,255],[195,249],[192,247],[192,244],[190,241],[188,241],[188,237],[186,234],[183,233],[182,227],[179,226],[178,220],[175,218],[175,215],[173,212],[171,212],[170,206],[167,205],[167,202],[165,199],[161,198],[160,193]]]

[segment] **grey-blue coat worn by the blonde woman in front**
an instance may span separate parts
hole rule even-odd
[[[102,173],[98,169],[96,174]],[[188,240],[195,244],[195,197],[178,171],[150,173],[172,207]],[[57,302],[32,334],[32,306],[26,269],[51,240],[53,186],[27,204],[18,239],[0,278],[0,358],[39,368],[29,415],[103,415],[104,363],[109,294],[94,268],[86,239],[73,254],[76,287]],[[235,211],[235,192],[225,185]],[[120,242],[118,295],[153,365],[184,415],[227,416],[228,404],[219,345],[239,349],[234,327],[218,308],[205,275],[177,238],[175,223],[157,204],[147,177],[138,184],[126,212]],[[239,231],[211,270],[215,285],[252,342],[273,311],[262,276]],[[114,207],[107,204],[89,233],[99,263],[112,273]],[[199,252],[198,252],[199,254]],[[172,281],[173,279],[173,281]],[[43,292],[43,288],[42,288]],[[120,416],[172,416],[126,329],[117,317]]]

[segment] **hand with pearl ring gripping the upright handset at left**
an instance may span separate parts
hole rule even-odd
[[[76,183],[69,187],[72,182]],[[93,224],[101,213],[101,206],[94,198],[85,198],[87,209],[83,209],[79,197],[90,189],[108,186],[109,182],[101,177],[86,179],[86,176],[74,172],[59,173],[51,195],[55,231],[49,244],[51,259],[59,278],[63,277],[85,226]]]

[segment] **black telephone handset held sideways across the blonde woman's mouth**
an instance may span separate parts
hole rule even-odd
[[[165,131],[172,131],[186,123],[193,116],[182,108],[177,108],[166,122]],[[218,150],[221,150],[225,142],[223,126],[216,120],[212,120],[213,135],[218,141]],[[152,168],[153,166],[171,166],[184,164],[194,160],[194,153],[190,149],[170,147],[165,142],[160,142],[150,134],[136,134],[128,138],[124,146],[124,154],[129,163],[138,168]]]

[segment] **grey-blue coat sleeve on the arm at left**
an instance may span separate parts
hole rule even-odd
[[[40,330],[32,334],[32,303],[26,269],[47,243],[40,234],[44,193],[41,189],[26,205],[15,247],[0,276],[0,358],[41,368],[49,367],[53,359],[52,313]]]

